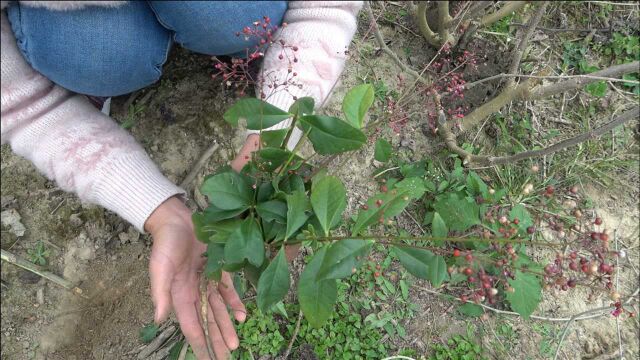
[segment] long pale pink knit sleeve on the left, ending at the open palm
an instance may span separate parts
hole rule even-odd
[[[84,96],[33,70],[18,51],[4,11],[1,16],[2,144],[10,144],[62,189],[143,231],[153,210],[183,191]]]

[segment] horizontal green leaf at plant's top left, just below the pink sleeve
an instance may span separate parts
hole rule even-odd
[[[238,120],[246,119],[247,129],[262,130],[290,118],[291,114],[265,101],[244,98],[233,104],[222,117],[233,126],[238,125]]]

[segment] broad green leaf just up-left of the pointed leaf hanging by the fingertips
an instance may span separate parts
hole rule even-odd
[[[255,266],[264,261],[264,244],[258,223],[253,218],[245,219],[231,235],[224,247],[226,263],[241,263],[245,259]]]

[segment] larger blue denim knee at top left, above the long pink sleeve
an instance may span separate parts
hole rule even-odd
[[[73,11],[16,4],[8,17],[35,70],[93,96],[122,95],[156,82],[172,41],[146,2]]]

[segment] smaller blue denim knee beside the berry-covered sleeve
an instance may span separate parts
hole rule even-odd
[[[280,25],[287,11],[286,1],[149,1],[158,21],[175,32],[183,47],[207,55],[246,55],[260,39],[245,40],[246,26],[268,16]]]

